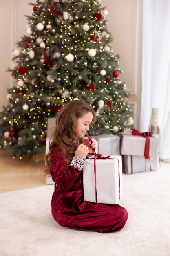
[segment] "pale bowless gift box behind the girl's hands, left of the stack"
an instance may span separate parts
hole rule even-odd
[[[102,155],[120,155],[120,137],[100,137],[98,139],[98,152]]]

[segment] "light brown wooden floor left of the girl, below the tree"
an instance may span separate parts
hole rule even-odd
[[[44,161],[33,162],[28,157],[13,159],[0,150],[0,193],[45,186],[44,174]]]

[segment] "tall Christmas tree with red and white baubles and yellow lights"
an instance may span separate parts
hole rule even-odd
[[[15,86],[0,112],[0,145],[13,157],[45,149],[47,119],[71,100],[96,111],[90,135],[119,135],[131,125],[129,93],[121,81],[106,15],[99,0],[37,0],[13,51]]]

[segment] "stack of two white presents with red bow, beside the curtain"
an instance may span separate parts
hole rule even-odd
[[[132,130],[132,135],[121,135],[123,171],[126,174],[156,171],[158,168],[159,139],[149,132]]]

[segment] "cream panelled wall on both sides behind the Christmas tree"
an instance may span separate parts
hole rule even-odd
[[[23,36],[27,23],[24,15],[32,13],[31,0],[0,1],[0,110],[7,104],[7,88],[13,85],[10,72],[12,50],[16,41]],[[134,111],[135,127],[139,129],[141,106],[141,42],[142,42],[142,0],[101,0],[108,10],[108,31],[113,35],[112,49],[119,54],[121,79],[125,81],[130,98],[128,102]]]

